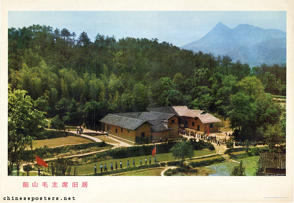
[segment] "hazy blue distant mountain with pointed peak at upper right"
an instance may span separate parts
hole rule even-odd
[[[249,24],[230,28],[222,22],[203,38],[181,47],[195,52],[228,55],[233,62],[240,60],[249,66],[286,64],[286,32],[263,29]]]

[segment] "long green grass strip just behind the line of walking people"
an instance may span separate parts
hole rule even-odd
[[[209,154],[214,154],[215,151],[208,151],[208,150],[199,150],[199,151],[194,151],[194,156],[205,156]],[[163,154],[156,154],[156,160],[157,162],[162,162],[162,161],[174,161],[176,160],[173,156],[172,153],[163,153]],[[122,158],[122,159],[108,159],[108,160],[103,160],[103,161],[98,161],[94,163],[89,163],[89,164],[84,164],[84,165],[77,165],[77,171],[79,175],[85,175],[85,174],[92,174],[94,173],[94,165],[96,164],[97,167],[97,172],[100,173],[100,165],[103,165],[103,171],[104,171],[104,163],[106,163],[107,170],[111,170],[111,162],[113,162],[114,170],[115,170],[115,163],[117,161],[118,163],[118,168],[120,167],[120,161],[122,161],[123,168],[127,167],[127,161],[129,160],[130,166],[133,164],[133,159],[135,159],[135,165],[140,165],[140,158],[142,159],[142,164],[145,164],[145,158],[147,158],[147,164],[149,164],[149,157],[151,157],[151,163],[154,162],[154,158],[152,155],[148,156],[137,156],[137,157],[128,157],[128,158]]]

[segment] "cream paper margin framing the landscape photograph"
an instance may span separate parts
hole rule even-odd
[[[287,175],[285,177],[7,176],[7,30],[10,20],[9,12],[16,11],[84,11],[85,16],[91,12],[94,13],[93,11],[133,11],[136,13],[150,11],[182,11],[184,13],[185,11],[285,11],[287,33]],[[83,17],[81,18],[83,19]],[[21,17],[18,20],[21,21]],[[107,20],[107,18],[102,20]],[[203,20],[209,21],[209,18]],[[62,29],[63,27],[59,28]],[[128,36],[117,36],[117,39],[121,37]],[[201,36],[197,37],[201,38]],[[160,42],[164,41],[163,39],[159,40]],[[179,43],[178,46],[185,43]],[[2,106],[0,123],[3,128],[1,136],[0,202],[290,202],[293,200],[293,2],[2,1],[0,89]],[[47,182],[48,187],[45,187],[43,182]],[[63,182],[67,182],[68,187],[62,187]],[[28,183],[28,187],[24,187],[24,183]],[[26,197],[26,200],[15,200],[12,197]]]

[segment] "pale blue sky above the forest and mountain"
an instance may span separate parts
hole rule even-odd
[[[155,39],[183,46],[204,37],[218,22],[230,28],[250,24],[286,31],[285,11],[9,11],[8,27],[33,24],[68,29],[79,36],[85,31],[93,42],[100,33]]]

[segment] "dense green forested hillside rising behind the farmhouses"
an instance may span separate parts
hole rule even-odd
[[[157,39],[98,33],[91,42],[86,32],[45,25],[8,32],[9,85],[26,90],[48,118],[96,127],[107,113],[186,105],[230,117],[240,139],[262,139],[269,126],[284,130],[284,110],[270,94],[285,95],[285,66],[264,61],[251,71],[229,56]]]

